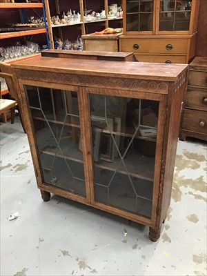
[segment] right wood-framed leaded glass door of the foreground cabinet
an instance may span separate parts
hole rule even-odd
[[[92,204],[155,224],[164,97],[83,88],[89,108]],[[160,118],[160,119],[159,119]],[[90,160],[88,161],[90,164]]]

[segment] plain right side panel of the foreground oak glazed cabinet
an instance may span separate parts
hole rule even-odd
[[[181,87],[173,92],[175,86],[171,85],[171,92],[168,96],[167,111],[166,111],[166,132],[164,137],[164,152],[161,168],[161,189],[159,203],[159,210],[157,216],[157,225],[161,225],[166,218],[168,207],[170,206],[170,197],[172,191],[172,180],[175,168],[175,157],[177,150],[177,141],[179,135],[179,122],[181,119],[181,106],[184,99],[184,92],[186,90],[186,81]],[[160,206],[161,204],[161,206]]]

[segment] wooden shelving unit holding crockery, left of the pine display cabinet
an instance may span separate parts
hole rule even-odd
[[[113,1],[121,4],[121,1]],[[55,37],[60,38],[61,41],[68,39],[70,41],[75,41],[77,37],[81,37],[81,35],[89,34],[95,31],[101,31],[105,28],[117,28],[119,26],[122,27],[122,18],[109,18],[108,17],[108,4],[110,0],[79,0],[79,1],[61,1],[61,0],[45,0],[46,4],[46,16],[48,19],[48,33],[50,36],[50,41],[54,41]],[[55,14],[61,14],[64,10],[75,10],[76,13],[80,14],[80,22],[79,23],[66,23],[66,24],[57,24],[52,25],[49,20]],[[86,21],[84,19],[84,11],[85,10],[95,10],[95,12],[101,12],[101,10],[105,10],[106,18],[97,19],[92,21]],[[50,22],[49,22],[50,21]],[[110,23],[109,23],[110,22]],[[51,24],[51,26],[50,26]],[[51,42],[50,48],[54,49],[54,45]]]

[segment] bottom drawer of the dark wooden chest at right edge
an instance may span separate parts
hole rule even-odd
[[[182,129],[207,134],[207,112],[184,109]]]

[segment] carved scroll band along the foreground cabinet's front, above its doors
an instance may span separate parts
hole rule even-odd
[[[144,92],[158,92],[161,94],[167,94],[168,92],[168,86],[164,81],[146,81],[144,79],[99,77],[21,69],[16,69],[15,72],[19,79],[46,81],[48,83],[61,83],[98,88],[121,88],[123,90],[139,90]]]

